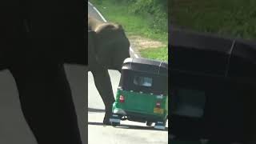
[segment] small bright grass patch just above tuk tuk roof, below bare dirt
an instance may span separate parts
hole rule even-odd
[[[166,47],[140,50],[140,54],[143,58],[158,59],[165,62],[168,61],[168,49],[166,49]]]

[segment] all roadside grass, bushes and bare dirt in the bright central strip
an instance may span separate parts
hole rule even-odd
[[[107,21],[122,24],[143,58],[168,61],[167,0],[90,0]]]

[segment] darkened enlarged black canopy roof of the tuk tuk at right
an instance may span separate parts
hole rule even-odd
[[[256,44],[184,30],[170,30],[171,70],[218,77],[256,77]]]

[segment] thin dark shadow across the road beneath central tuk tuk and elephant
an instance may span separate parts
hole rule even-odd
[[[94,126],[104,126],[102,122],[88,122],[88,125],[94,125]],[[134,130],[157,130],[154,129],[154,126],[132,126],[132,125],[121,125],[121,126],[116,126],[116,129],[134,129]],[[168,127],[166,127],[166,130],[160,130],[160,131],[168,131]]]

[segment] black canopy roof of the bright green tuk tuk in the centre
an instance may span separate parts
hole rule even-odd
[[[126,58],[122,70],[168,76],[168,63],[146,58]]]

